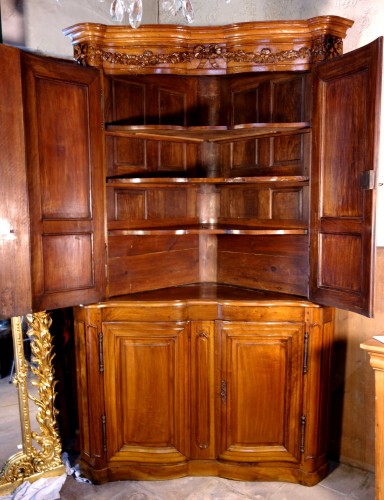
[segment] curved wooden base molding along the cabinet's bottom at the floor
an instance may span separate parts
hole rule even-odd
[[[314,472],[281,464],[228,464],[217,460],[190,460],[171,465],[125,462],[122,465],[113,464],[103,469],[95,469],[81,459],[80,468],[94,484],[104,484],[109,481],[161,481],[187,476],[206,476],[236,481],[284,481],[314,486],[328,473],[326,461]]]

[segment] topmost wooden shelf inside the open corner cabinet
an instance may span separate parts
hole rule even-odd
[[[158,141],[185,142],[233,142],[246,139],[309,132],[309,122],[295,123],[242,123],[232,127],[177,125],[120,125],[107,124],[106,135]]]

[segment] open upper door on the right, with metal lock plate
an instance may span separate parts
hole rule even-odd
[[[314,68],[310,299],[373,315],[382,38]]]

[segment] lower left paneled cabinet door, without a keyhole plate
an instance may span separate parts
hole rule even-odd
[[[188,322],[103,323],[110,463],[187,459],[188,330]]]

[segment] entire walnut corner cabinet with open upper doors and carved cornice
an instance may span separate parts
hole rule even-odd
[[[83,23],[0,46],[0,315],[75,309],[95,482],[327,472],[334,308],[373,314],[382,39]]]

